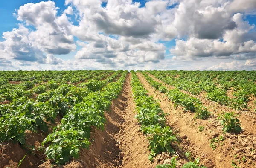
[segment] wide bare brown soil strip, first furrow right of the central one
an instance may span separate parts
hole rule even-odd
[[[215,168],[232,167],[232,160],[234,160],[240,168],[249,168],[256,165],[256,156],[253,152],[256,147],[256,137],[254,135],[246,131],[239,135],[226,133],[223,135],[225,140],[216,143],[217,148],[212,150],[209,146],[209,140],[222,135],[222,128],[219,121],[216,119],[217,117],[212,116],[208,120],[199,120],[194,118],[194,113],[184,113],[182,107],[174,109],[173,103],[168,100],[165,94],[159,93],[154,88],[151,88],[143,75],[138,73],[138,76],[145,88],[149,90],[149,93],[152,94],[155,99],[160,99],[160,107],[164,112],[170,114],[166,117],[169,123],[176,125],[180,130],[180,135],[186,135],[192,146],[198,150],[198,154],[195,155],[201,158],[203,164],[210,159]],[[198,129],[199,126],[204,126],[204,131],[200,132]],[[194,151],[195,150],[192,148],[192,152]],[[234,158],[234,155],[237,157]],[[241,160],[243,156],[245,156],[247,162],[242,161],[239,164],[238,159]]]

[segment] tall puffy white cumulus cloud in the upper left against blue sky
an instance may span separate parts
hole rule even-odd
[[[76,49],[70,34],[71,23],[66,16],[67,12],[70,14],[70,8],[57,17],[55,2],[28,3],[20,6],[15,16],[17,20],[35,27],[28,38],[40,50],[49,54],[68,54]]]

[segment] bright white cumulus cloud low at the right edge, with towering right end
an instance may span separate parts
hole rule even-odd
[[[256,34],[251,33],[255,25],[250,25],[244,21],[242,14],[234,14],[232,20],[237,27],[233,30],[227,30],[223,35],[223,41],[195,37],[189,38],[187,41],[177,40],[175,48],[170,49],[170,52],[180,59],[210,56],[230,58],[230,56],[239,54],[244,54],[243,59],[248,59],[247,56],[251,58],[251,55],[256,52],[254,41]],[[241,56],[237,58],[241,58]]]

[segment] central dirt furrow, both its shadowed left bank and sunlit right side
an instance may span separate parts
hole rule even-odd
[[[122,93],[112,101],[102,132],[93,129],[90,149],[81,150],[79,159],[64,168],[154,168],[148,160],[148,141],[134,119],[136,105],[131,92],[131,74],[128,74]],[[42,166],[45,168],[45,165]]]

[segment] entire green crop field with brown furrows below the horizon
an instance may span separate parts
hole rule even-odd
[[[255,71],[1,71],[0,168],[254,168]]]

